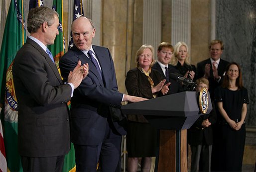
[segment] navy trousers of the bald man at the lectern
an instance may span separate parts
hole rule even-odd
[[[74,144],[77,172],[96,172],[97,164],[102,172],[121,171],[122,136],[115,134],[109,125],[100,145]]]

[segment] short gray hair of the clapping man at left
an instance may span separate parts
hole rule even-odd
[[[59,14],[46,6],[40,6],[30,9],[27,17],[27,30],[29,33],[35,33],[43,24],[47,22],[50,26],[54,23],[54,16],[59,17]]]

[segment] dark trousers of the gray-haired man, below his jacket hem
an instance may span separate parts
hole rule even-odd
[[[22,157],[23,172],[62,172],[64,155],[57,157]]]

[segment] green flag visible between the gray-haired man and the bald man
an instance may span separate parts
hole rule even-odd
[[[65,53],[65,38],[63,32],[63,1],[62,0],[53,0],[52,9],[54,9],[59,14],[59,35],[56,36],[53,45],[49,45],[48,48],[52,53],[52,56],[55,60],[55,64],[59,70],[59,60]],[[63,172],[75,172],[75,150],[74,146],[71,143],[71,149],[69,153],[65,156]]]

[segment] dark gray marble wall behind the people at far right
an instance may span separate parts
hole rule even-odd
[[[222,58],[242,67],[250,104],[247,126],[256,125],[256,1],[217,0],[216,38],[224,41]]]

